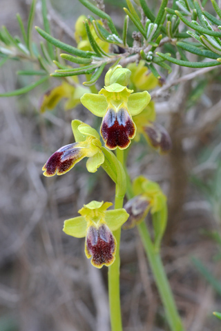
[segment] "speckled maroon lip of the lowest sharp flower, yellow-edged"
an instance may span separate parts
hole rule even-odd
[[[102,268],[103,265],[111,265],[115,261],[116,239],[106,224],[99,228],[90,226],[86,234],[85,253],[91,259],[91,263]]]

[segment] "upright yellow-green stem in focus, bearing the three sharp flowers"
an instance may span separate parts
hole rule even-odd
[[[117,159],[124,163],[124,152],[117,148]],[[124,203],[124,196],[119,194],[119,186],[116,184],[115,194],[115,209],[122,208]],[[108,268],[108,294],[111,315],[111,330],[122,331],[122,316],[120,309],[120,292],[119,292],[119,243],[120,243],[121,228],[113,232],[117,241],[117,250],[115,253],[115,261]]]

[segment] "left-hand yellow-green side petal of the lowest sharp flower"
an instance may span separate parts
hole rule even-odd
[[[83,238],[86,236],[87,222],[84,217],[74,217],[73,219],[66,219],[64,221],[63,231],[69,236],[76,238]]]

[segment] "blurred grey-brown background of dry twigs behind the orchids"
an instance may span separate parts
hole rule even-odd
[[[105,3],[121,26],[124,1]],[[75,21],[88,11],[77,0],[51,0],[48,6],[52,34],[75,46]],[[29,10],[30,1],[1,0],[1,24],[16,35],[17,12],[26,26]],[[38,3],[35,25],[42,27],[39,10]],[[15,75],[25,66],[8,61],[0,68],[1,92],[30,83],[30,77]],[[171,79],[188,73],[173,67]],[[221,329],[212,314],[221,312],[220,77],[216,68],[153,92],[157,121],[169,130],[173,149],[159,156],[140,141],[128,157],[131,177],[157,181],[168,197],[162,259],[188,331]],[[72,119],[99,128],[83,107],[65,112],[62,101],[40,114],[39,100],[49,87],[0,101],[0,331],[109,331],[107,268],[93,268],[84,239],[62,228],[84,203],[113,202],[115,187],[102,169],[88,173],[84,161],[65,176],[43,177],[52,152],[74,141]],[[124,330],[169,330],[136,229],[122,232],[121,258]]]

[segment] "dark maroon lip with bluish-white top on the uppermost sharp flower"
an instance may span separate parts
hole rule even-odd
[[[135,123],[124,108],[117,112],[108,109],[102,121],[101,134],[110,150],[127,148],[135,136]]]

